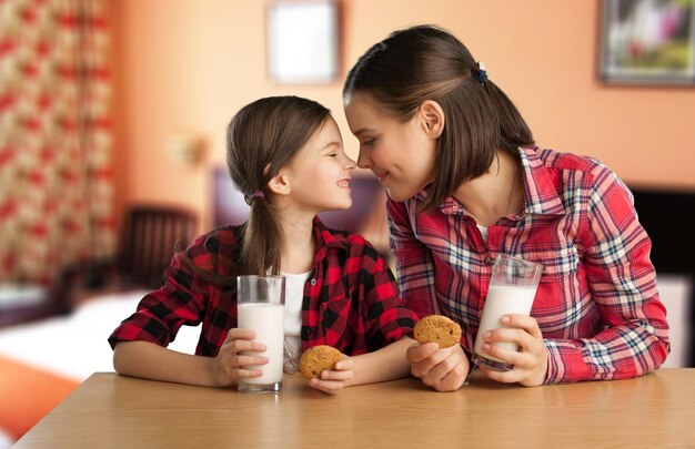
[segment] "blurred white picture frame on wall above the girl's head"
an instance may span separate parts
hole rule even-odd
[[[275,1],[268,8],[269,74],[278,84],[325,84],[340,75],[340,4]]]

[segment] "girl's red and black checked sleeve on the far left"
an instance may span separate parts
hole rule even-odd
[[[193,273],[192,261],[201,268],[210,265],[211,253],[199,237],[185,252],[174,255],[164,272],[160,289],[145,295],[137,312],[124,319],[109,337],[111,348],[120,341],[150,341],[168,346],[182,325],[197,326],[203,316],[204,283]]]

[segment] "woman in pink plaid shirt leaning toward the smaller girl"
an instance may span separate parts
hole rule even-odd
[[[483,351],[514,365],[481,367],[491,379],[623,379],[665,360],[666,313],[632,194],[593,159],[534,146],[514,104],[455,37],[430,25],[392,33],[352,68],[343,99],[357,164],[390,196],[403,299],[464,330],[463,350],[410,348],[413,375],[437,390],[463,384],[500,253],[538,262],[544,274],[531,317],[505,316],[505,328],[484,335]]]

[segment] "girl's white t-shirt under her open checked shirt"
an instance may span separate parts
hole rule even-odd
[[[304,284],[311,272],[301,274],[281,273],[284,284],[284,370],[296,373],[302,355],[302,300]]]

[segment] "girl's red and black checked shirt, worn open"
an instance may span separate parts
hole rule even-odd
[[[174,256],[162,287],[147,295],[111,334],[111,347],[131,340],[167,346],[182,325],[202,323],[195,354],[214,357],[229,329],[236,327],[235,287],[205,282],[182,258],[229,276],[239,253],[239,231],[240,226],[218,228]],[[377,252],[363,237],[329,229],[319,218],[314,236],[318,249],[302,303],[302,351],[324,344],[359,355],[411,334],[417,318],[404,307],[393,274]]]

